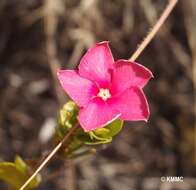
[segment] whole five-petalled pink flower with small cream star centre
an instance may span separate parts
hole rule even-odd
[[[90,48],[78,70],[58,71],[63,89],[81,108],[78,120],[86,132],[116,118],[147,121],[150,112],[142,88],[151,77],[138,63],[114,61],[108,42]]]

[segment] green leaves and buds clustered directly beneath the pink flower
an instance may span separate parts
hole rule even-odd
[[[59,113],[58,126],[54,138],[55,143],[61,141],[70,128],[76,125],[78,122],[78,111],[79,108],[72,101],[67,102],[62,107]],[[79,128],[63,150],[59,152],[60,156],[62,158],[73,158],[78,157],[78,155],[84,155],[84,152],[94,153],[95,151],[91,146],[112,142],[112,138],[121,131],[122,126],[123,121],[117,119],[107,126],[98,128],[89,133],[84,132],[82,128]]]

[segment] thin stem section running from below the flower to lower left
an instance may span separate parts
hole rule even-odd
[[[70,131],[65,135],[64,139],[52,150],[52,152],[44,159],[37,170],[31,175],[31,177],[24,183],[24,185],[19,190],[24,190],[27,185],[33,180],[33,178],[46,166],[46,164],[52,159],[52,157],[59,151],[59,149],[64,145],[64,143],[69,139],[71,135],[78,129],[78,125],[70,129]]]

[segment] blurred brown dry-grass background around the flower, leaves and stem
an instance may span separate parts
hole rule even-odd
[[[95,42],[129,58],[166,0],[1,0],[0,160],[44,156],[66,96],[55,70],[75,68]],[[145,87],[149,122],[126,123],[112,144],[75,164],[52,162],[39,190],[196,188],[196,1],[179,1],[137,61],[153,71]],[[196,73],[196,72],[195,72]],[[183,176],[162,183],[161,176]],[[0,189],[6,189],[0,183]]]

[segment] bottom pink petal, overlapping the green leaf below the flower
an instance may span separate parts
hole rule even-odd
[[[120,116],[118,111],[112,110],[107,102],[95,98],[88,106],[80,109],[79,122],[84,131],[101,128]]]

